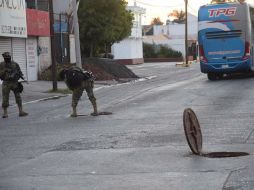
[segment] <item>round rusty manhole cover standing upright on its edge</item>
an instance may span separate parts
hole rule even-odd
[[[194,154],[202,154],[202,133],[196,114],[191,108],[183,112],[184,132],[191,151]]]

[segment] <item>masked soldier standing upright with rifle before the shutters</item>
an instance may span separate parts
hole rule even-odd
[[[2,108],[4,110],[3,118],[8,117],[7,108],[9,107],[10,91],[13,91],[15,100],[19,108],[19,116],[27,116],[28,114],[22,109],[22,99],[18,89],[18,80],[23,78],[23,74],[17,63],[11,60],[9,52],[2,54],[4,62],[0,63],[0,79],[3,80],[2,84]]]

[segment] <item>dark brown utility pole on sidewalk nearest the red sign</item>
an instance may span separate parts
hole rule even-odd
[[[53,14],[53,2],[52,2],[52,0],[49,0],[49,14],[50,14],[50,37],[51,37],[52,85],[53,85],[53,91],[57,91],[57,70],[56,70],[56,60],[55,60],[54,14]]]

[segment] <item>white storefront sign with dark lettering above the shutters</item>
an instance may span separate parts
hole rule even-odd
[[[0,36],[27,37],[25,0],[0,0]]]

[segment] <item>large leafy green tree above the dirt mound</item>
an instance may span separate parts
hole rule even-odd
[[[82,54],[93,57],[131,34],[133,14],[124,0],[82,0],[79,25]]]

